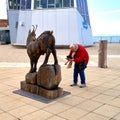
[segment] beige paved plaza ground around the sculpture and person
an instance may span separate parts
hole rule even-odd
[[[99,44],[86,49],[90,55],[87,87],[70,87],[73,69],[64,65],[69,49],[56,49],[64,94],[46,99],[20,89],[30,67],[26,48],[0,45],[0,120],[120,120],[120,43],[108,44],[108,68],[98,67]],[[38,67],[43,60],[41,56]]]

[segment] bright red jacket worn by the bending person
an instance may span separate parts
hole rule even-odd
[[[69,56],[71,56],[73,51],[70,50]],[[75,52],[74,55],[74,62],[83,62],[85,61],[86,64],[88,64],[89,61],[89,54],[87,50],[80,44],[78,44],[78,50]]]

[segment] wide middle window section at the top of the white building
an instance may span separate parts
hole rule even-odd
[[[71,7],[74,7],[74,0],[34,0],[34,9]]]

